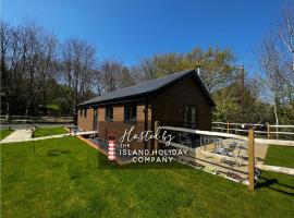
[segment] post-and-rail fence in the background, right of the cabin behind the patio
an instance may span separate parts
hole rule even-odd
[[[294,138],[294,125],[271,125],[260,123],[225,123],[212,122],[212,131],[247,135],[250,129],[254,133],[267,138]]]

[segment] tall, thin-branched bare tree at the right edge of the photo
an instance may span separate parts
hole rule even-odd
[[[275,124],[294,122],[294,1],[282,8],[278,27],[262,40],[257,56]]]

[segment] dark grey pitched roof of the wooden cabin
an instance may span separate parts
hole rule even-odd
[[[209,102],[212,106],[216,106],[209,92],[207,90],[206,86],[203,84],[200,77],[197,75],[195,70],[182,71],[182,72],[174,73],[174,74],[171,74],[171,75],[168,75],[164,77],[160,77],[160,78],[156,78],[156,80],[148,81],[145,83],[139,83],[139,84],[136,84],[136,85],[133,85],[130,87],[125,87],[125,88],[122,88],[119,90],[105,93],[101,96],[86,100],[86,101],[79,104],[78,106],[101,104],[101,102],[106,102],[106,101],[110,101],[110,100],[117,100],[117,99],[126,98],[126,97],[135,97],[135,96],[139,96],[139,95],[150,94],[150,93],[154,93],[154,92],[169,85],[170,83],[172,83],[172,82],[174,82],[174,81],[176,81],[185,75],[188,75],[188,74],[195,74],[196,81],[200,85],[200,87],[203,88],[205,95],[209,99]]]

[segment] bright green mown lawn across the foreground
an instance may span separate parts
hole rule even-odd
[[[2,217],[293,217],[293,178],[264,173],[259,187],[191,169],[108,164],[75,137],[1,146]],[[268,162],[273,161],[270,148]],[[283,153],[287,161],[293,153]]]

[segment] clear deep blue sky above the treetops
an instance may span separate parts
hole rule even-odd
[[[1,16],[19,24],[34,19],[61,41],[91,43],[99,60],[126,65],[194,47],[229,47],[237,63],[257,70],[253,48],[277,23],[275,0],[2,0]]]

